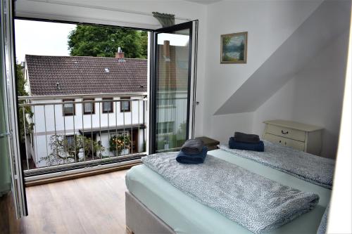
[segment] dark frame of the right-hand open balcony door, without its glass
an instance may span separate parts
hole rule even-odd
[[[158,86],[158,41],[157,34],[189,29],[189,65],[187,90],[187,132],[186,139],[194,137],[195,100],[196,100],[196,51],[198,20],[183,22],[170,27],[153,30],[151,37],[150,91],[149,91],[149,155],[156,152],[156,87]],[[194,33],[195,32],[195,33]],[[193,66],[194,64],[194,66]],[[194,79],[192,79],[192,77]],[[192,105],[192,108],[191,108]],[[192,109],[192,110],[191,110]],[[190,127],[191,126],[191,127]]]

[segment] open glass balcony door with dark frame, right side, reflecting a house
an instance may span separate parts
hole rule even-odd
[[[194,136],[197,23],[153,32],[150,153],[177,150]]]

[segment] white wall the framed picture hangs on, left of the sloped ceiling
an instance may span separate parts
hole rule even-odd
[[[204,134],[228,131],[229,125],[214,113],[246,79],[301,25],[320,1],[220,1],[208,7],[206,30],[206,83],[204,89]],[[248,32],[246,64],[220,64],[220,35]],[[242,122],[232,115],[231,122]],[[246,126],[251,126],[248,118]],[[213,125],[210,125],[213,124]],[[232,129],[234,131],[236,129]],[[251,131],[248,129],[247,131]]]

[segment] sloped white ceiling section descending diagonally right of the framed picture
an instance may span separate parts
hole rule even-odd
[[[350,13],[350,1],[324,1],[215,115],[257,110],[324,46],[348,30]]]

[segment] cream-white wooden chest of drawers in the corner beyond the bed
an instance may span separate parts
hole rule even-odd
[[[266,141],[320,155],[323,128],[280,119],[263,123],[265,124],[263,138]]]

